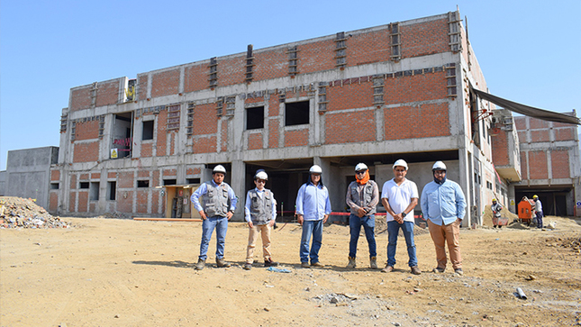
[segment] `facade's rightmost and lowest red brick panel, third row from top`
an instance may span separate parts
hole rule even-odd
[[[451,135],[448,104],[420,104],[384,109],[386,140]]]

